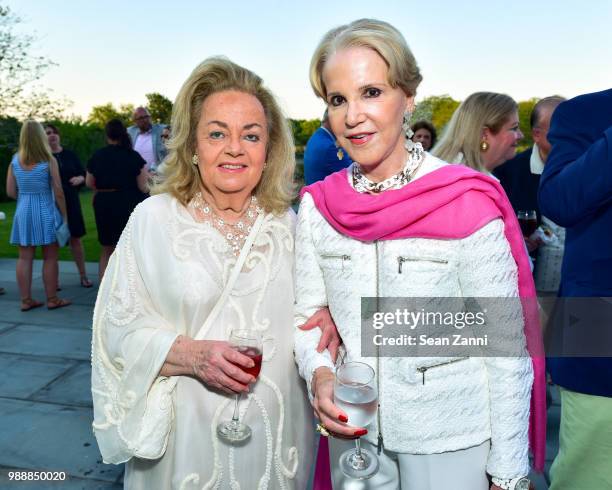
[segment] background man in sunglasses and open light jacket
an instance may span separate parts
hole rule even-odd
[[[166,147],[161,140],[163,124],[152,124],[151,114],[146,107],[137,107],[132,115],[134,126],[128,128],[134,150],[147,162],[147,170],[156,172],[166,156]]]

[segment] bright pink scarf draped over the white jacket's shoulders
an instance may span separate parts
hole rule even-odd
[[[379,195],[361,194],[348,182],[347,170],[302,189],[329,224],[356,240],[465,238],[496,218],[518,268],[527,349],[534,383],[531,392],[529,443],[536,471],[544,469],[546,452],[546,380],[544,350],[535,286],[514,210],[501,185],[463,165],[445,165],[409,185]],[[320,487],[324,488],[324,487]]]

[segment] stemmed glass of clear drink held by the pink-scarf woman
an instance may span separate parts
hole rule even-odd
[[[348,423],[355,427],[369,425],[378,410],[378,389],[374,370],[363,362],[347,362],[336,371],[334,403],[348,416]],[[355,449],[340,456],[340,469],[350,478],[366,480],[378,472],[378,458],[361,448],[361,440],[355,439]]]

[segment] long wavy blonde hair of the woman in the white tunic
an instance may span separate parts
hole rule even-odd
[[[282,214],[295,196],[295,148],[287,119],[259,76],[224,57],[204,60],[181,87],[172,109],[164,180],[154,186],[152,193],[168,192],[186,205],[199,191],[200,174],[192,157],[202,105],[210,95],[227,90],[250,94],[264,108],[268,124],[267,166],[254,194],[266,212]]]

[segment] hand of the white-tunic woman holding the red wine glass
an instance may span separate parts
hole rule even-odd
[[[249,391],[255,378],[241,367],[251,368],[252,359],[217,340],[193,340],[190,345],[192,374],[211,388],[229,394]]]

